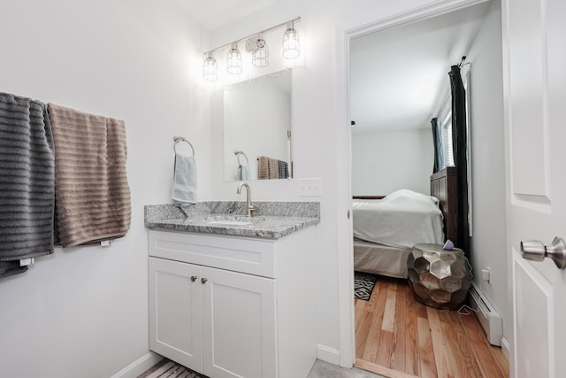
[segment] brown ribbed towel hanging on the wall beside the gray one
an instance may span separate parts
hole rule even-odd
[[[58,243],[126,234],[132,215],[122,120],[48,104],[55,142]]]

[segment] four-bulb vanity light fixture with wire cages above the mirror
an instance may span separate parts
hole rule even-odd
[[[238,49],[239,42],[246,42],[246,50],[251,53],[251,63],[253,66],[269,66],[269,47],[267,46],[267,42],[265,42],[264,40],[264,33],[270,32],[279,27],[287,27],[283,35],[283,57],[287,59],[297,58],[299,55],[301,55],[301,49],[299,34],[294,28],[294,23],[300,20],[300,17],[290,19],[287,22],[275,25],[268,29],[264,29],[263,31],[254,33],[253,35],[248,35],[247,37],[241,38],[238,41],[226,43],[224,46],[220,46],[214,50],[206,52],[206,58],[204,58],[203,65],[203,78],[207,81],[218,80],[218,62],[216,58],[214,58],[213,54],[214,52],[224,49],[227,46],[229,46],[230,48],[226,56],[226,71],[233,75],[241,74],[243,68],[241,62],[241,52]],[[255,40],[252,40],[252,38]]]

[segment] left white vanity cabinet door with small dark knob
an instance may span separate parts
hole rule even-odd
[[[202,373],[200,270],[149,258],[149,349]]]

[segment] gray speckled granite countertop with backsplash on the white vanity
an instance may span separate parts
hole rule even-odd
[[[320,222],[320,204],[317,202],[254,204],[258,210],[251,218],[245,215],[244,202],[146,205],[145,227],[163,231],[279,239]]]

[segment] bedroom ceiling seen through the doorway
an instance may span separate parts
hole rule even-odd
[[[450,66],[470,50],[489,3],[356,38],[350,44],[352,134],[430,127]]]

